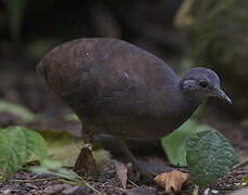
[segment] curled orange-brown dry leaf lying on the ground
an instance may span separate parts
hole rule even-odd
[[[154,181],[165,188],[165,193],[175,194],[181,191],[183,183],[188,180],[189,174],[177,170],[157,176]]]

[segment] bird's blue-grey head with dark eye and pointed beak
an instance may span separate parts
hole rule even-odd
[[[181,88],[188,99],[203,101],[209,96],[216,96],[232,104],[231,99],[220,87],[220,78],[208,68],[196,67],[187,70],[181,80]]]

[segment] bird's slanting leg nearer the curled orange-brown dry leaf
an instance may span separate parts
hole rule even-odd
[[[120,138],[117,140],[117,143],[121,147],[121,150],[123,151],[123,153],[126,155],[126,157],[131,160],[131,162],[134,165],[134,167],[140,172],[140,174],[142,174],[144,177],[146,177],[147,179],[153,181],[153,177],[150,172],[144,170],[138,160],[135,158],[135,156],[132,154],[132,152],[129,151],[129,148],[127,147],[126,143]]]

